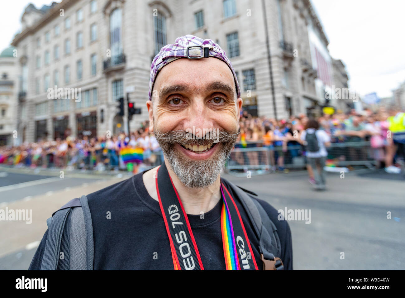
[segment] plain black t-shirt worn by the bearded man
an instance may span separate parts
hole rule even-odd
[[[142,174],[87,195],[93,223],[94,270],[173,270],[173,259],[159,202],[145,188]],[[228,187],[227,187],[228,188]],[[230,188],[228,188],[230,189]],[[231,193],[234,198],[235,193]],[[277,210],[258,199],[276,225],[285,270],[292,270],[291,231],[287,221],[277,220]],[[194,238],[205,270],[225,270],[220,226],[222,199],[209,212],[189,215]],[[239,200],[235,199],[245,225],[256,264],[262,270],[258,239]],[[111,212],[111,219],[107,213]],[[32,259],[30,270],[39,270],[48,231]]]

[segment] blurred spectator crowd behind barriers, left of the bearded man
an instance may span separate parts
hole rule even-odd
[[[17,167],[68,167],[71,169],[119,170],[126,169],[121,158],[124,148],[141,149],[138,163],[151,166],[161,163],[161,150],[156,138],[149,132],[148,121],[129,135],[118,133],[98,137],[43,139],[21,146],[0,147],[0,164]]]

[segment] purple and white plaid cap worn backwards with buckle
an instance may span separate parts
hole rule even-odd
[[[185,35],[178,37],[173,45],[165,45],[160,49],[159,54],[153,58],[151,64],[151,77],[149,80],[149,100],[152,100],[152,88],[155,84],[156,76],[166,64],[179,58],[201,59],[215,57],[224,61],[232,71],[235,79],[238,97],[241,96],[236,73],[232,67],[232,63],[226,57],[225,51],[211,39],[200,39],[194,35]]]

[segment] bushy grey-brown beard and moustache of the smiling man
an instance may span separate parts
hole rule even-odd
[[[204,138],[190,139],[189,133],[179,131],[168,131],[161,133],[155,130],[155,137],[163,154],[166,157],[171,169],[175,172],[177,178],[186,186],[192,189],[199,189],[213,184],[218,175],[221,173],[229,154],[236,143],[239,131],[228,133],[227,131],[220,131],[219,137],[215,139],[206,135]],[[183,154],[175,150],[175,144],[212,144],[213,141],[218,141],[221,146],[217,149],[217,153],[206,160],[193,160],[184,157]]]

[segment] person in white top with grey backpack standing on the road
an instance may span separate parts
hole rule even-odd
[[[310,119],[307,122],[305,131],[301,134],[301,141],[306,146],[307,161],[313,169],[314,188],[324,190],[326,189],[324,166],[328,155],[326,147],[330,146],[330,137],[325,131],[319,129],[317,120]]]

